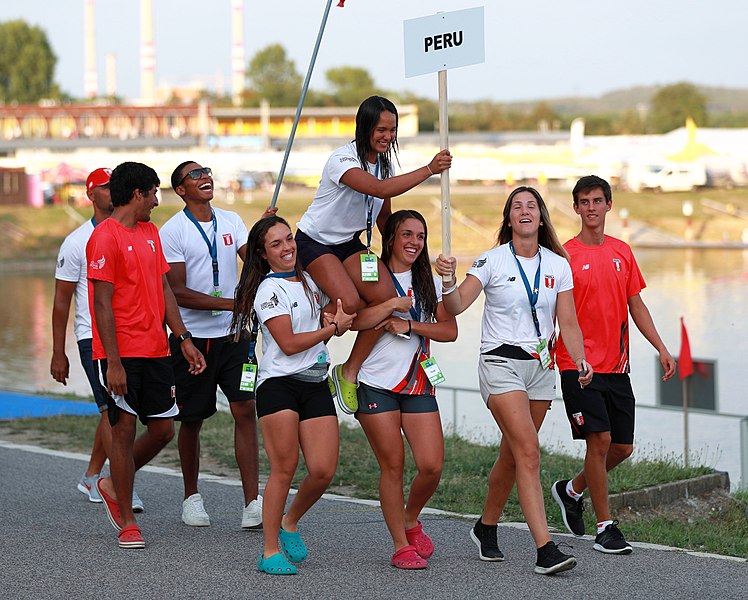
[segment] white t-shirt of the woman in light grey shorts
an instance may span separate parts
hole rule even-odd
[[[540,335],[548,346],[555,343],[556,296],[573,289],[571,267],[565,258],[548,248],[540,247],[533,258],[517,257],[532,288],[540,261],[540,285],[535,306]],[[481,352],[501,344],[520,346],[537,355],[538,335],[530,312],[530,300],[519,274],[509,244],[502,244],[481,254],[468,271],[483,286],[486,302],[483,308]]]

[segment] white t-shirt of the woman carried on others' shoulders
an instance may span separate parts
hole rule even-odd
[[[366,229],[369,204],[372,204],[373,228],[384,201],[372,196],[367,201],[365,194],[349,188],[340,181],[350,169],[360,168],[361,161],[356,155],[355,142],[335,150],[322,170],[317,195],[296,226],[320,244],[332,246],[350,242],[357,232]],[[369,163],[368,172],[374,175],[376,164]],[[381,166],[378,178],[384,179]]]

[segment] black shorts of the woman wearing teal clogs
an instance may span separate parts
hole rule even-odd
[[[327,381],[309,383],[289,376],[266,379],[257,389],[258,418],[281,410],[299,413],[299,421],[337,417]]]

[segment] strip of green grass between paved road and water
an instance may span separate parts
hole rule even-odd
[[[0,439],[40,445],[56,450],[86,453],[90,451],[97,417],[64,416],[46,419],[18,419],[0,422]],[[359,427],[341,426],[340,462],[330,491],[355,498],[376,499],[379,496],[379,468],[366,438]],[[214,475],[238,478],[233,453],[233,421],[218,413],[208,419],[201,435],[201,469]],[[442,480],[429,502],[431,508],[460,514],[480,514],[488,472],[498,453],[496,445],[478,445],[460,438],[445,440],[445,465]],[[407,452],[405,479],[410,481],[414,464]],[[179,467],[176,443],[172,442],[154,464]],[[546,493],[549,524],[564,530],[556,503],[549,489],[558,479],[574,474],[581,466],[578,458],[542,451],[541,483]],[[267,478],[269,466],[260,452],[261,479]],[[640,490],[703,476],[707,467],[683,467],[671,461],[640,459],[615,469],[610,477],[610,493]],[[299,469],[294,485],[304,477]],[[627,538],[642,542],[689,548],[748,558],[748,493],[730,496],[715,491],[653,508],[623,508],[617,512]],[[507,504],[505,521],[523,521],[516,491]],[[594,513],[586,511],[586,526],[593,531]]]

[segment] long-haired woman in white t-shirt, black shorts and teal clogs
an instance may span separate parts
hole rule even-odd
[[[327,489],[338,461],[338,419],[326,382],[325,342],[350,329],[355,315],[343,312],[340,301],[334,315],[322,312],[328,298],[302,271],[291,228],[276,216],[259,220],[250,230],[235,297],[232,330],[253,330],[248,366],[255,362],[254,341],[258,325],[262,328],[255,398],[270,477],[262,507],[264,549],[257,568],[291,575],[296,573],[291,563],[307,557],[299,519]],[[284,515],[299,445],[309,474]]]

